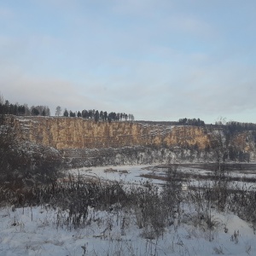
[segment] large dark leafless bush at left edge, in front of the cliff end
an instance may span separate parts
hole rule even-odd
[[[55,148],[20,140],[14,119],[0,116],[1,189],[16,191],[49,183],[58,176],[61,163],[61,155]],[[3,195],[1,200],[5,201]]]

